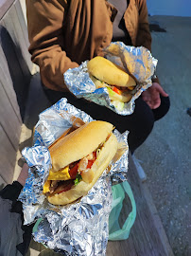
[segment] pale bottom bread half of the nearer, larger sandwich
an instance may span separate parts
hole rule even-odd
[[[117,139],[112,134],[112,136],[105,142],[98,157],[96,158],[95,163],[91,168],[94,172],[93,181],[91,183],[80,181],[77,186],[74,186],[71,190],[67,192],[61,192],[53,196],[48,196],[48,201],[54,205],[67,205],[76,201],[78,198],[86,195],[92,189],[97,179],[100,177],[101,174],[103,174],[104,170],[112,161],[113,156],[116,154],[117,147]]]

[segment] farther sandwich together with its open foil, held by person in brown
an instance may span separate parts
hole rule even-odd
[[[64,82],[77,98],[106,106],[115,113],[133,113],[135,100],[152,85],[157,60],[144,47],[111,43],[103,49],[104,57],[68,69]]]

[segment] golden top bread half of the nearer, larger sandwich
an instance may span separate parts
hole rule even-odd
[[[52,161],[51,171],[57,172],[94,152],[112,131],[113,124],[109,122],[91,121],[66,137],[61,137],[49,148]]]

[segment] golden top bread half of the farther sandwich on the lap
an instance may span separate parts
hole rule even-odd
[[[96,56],[87,64],[88,72],[101,82],[122,87],[135,86],[136,82],[120,66]]]

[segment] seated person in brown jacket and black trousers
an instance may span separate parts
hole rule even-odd
[[[92,116],[112,122],[118,131],[130,131],[131,153],[148,137],[154,121],[165,116],[169,98],[157,77],[135,101],[130,116],[120,116],[93,102],[77,99],[63,80],[68,68],[97,55],[111,42],[145,46],[151,51],[146,0],[26,0],[31,60],[40,66],[47,98],[61,98]]]

